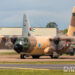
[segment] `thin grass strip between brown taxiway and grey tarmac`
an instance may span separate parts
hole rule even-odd
[[[0,62],[0,64],[75,64],[75,61]]]

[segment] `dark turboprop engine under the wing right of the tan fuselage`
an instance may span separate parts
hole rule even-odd
[[[54,44],[54,51],[59,55],[62,55],[62,53],[70,47],[70,40],[64,40],[60,37],[55,37],[50,41],[52,41]]]

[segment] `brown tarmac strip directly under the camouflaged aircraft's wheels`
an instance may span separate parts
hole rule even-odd
[[[49,56],[41,56],[33,59],[31,56],[20,59],[20,55],[0,55],[0,62],[39,62],[39,61],[75,61],[75,56],[60,56],[58,59],[51,59]]]

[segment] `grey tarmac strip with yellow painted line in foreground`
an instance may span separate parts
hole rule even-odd
[[[0,69],[42,69],[42,70],[64,70],[75,68],[75,64],[0,64]]]

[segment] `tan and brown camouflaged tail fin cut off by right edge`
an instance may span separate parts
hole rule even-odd
[[[72,11],[72,18],[68,29],[68,36],[75,36],[75,6]]]

